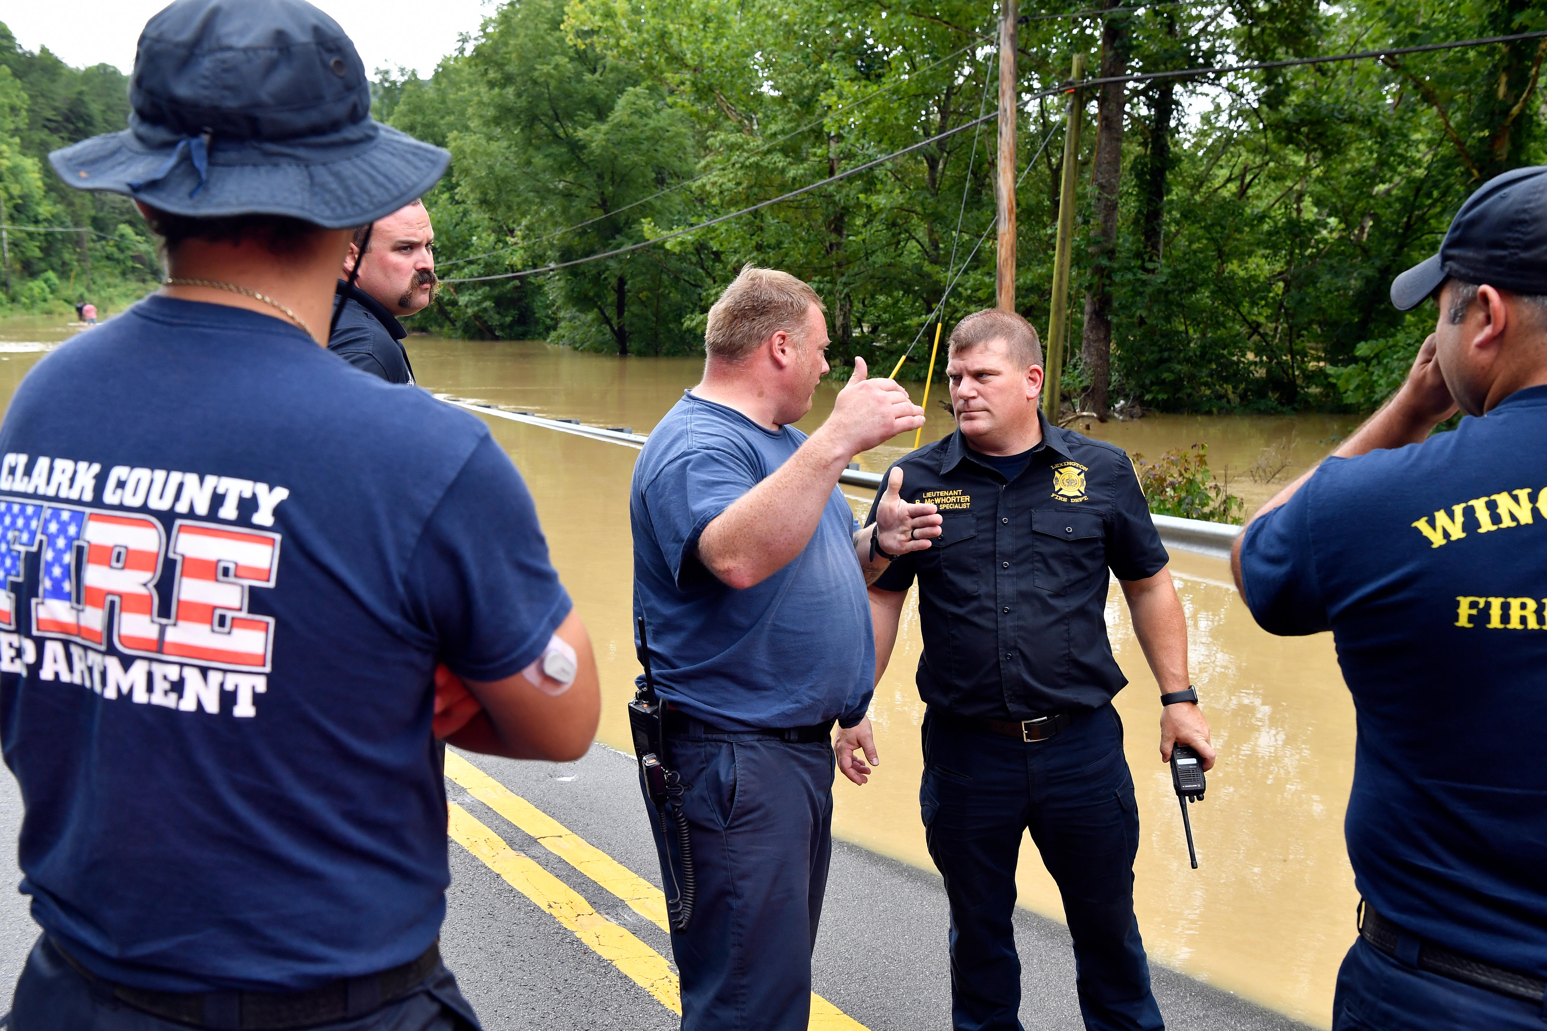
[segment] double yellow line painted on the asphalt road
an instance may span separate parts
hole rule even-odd
[[[487,773],[455,751],[446,753],[446,776],[459,784],[475,799],[537,839],[540,846],[585,873],[636,914],[668,932],[667,900],[659,887],[606,855],[557,819],[515,795]],[[654,995],[656,1002],[674,1014],[682,1012],[682,995],[676,974],[665,957],[617,926],[588,903],[579,892],[521,855],[466,808],[450,805],[452,841],[467,849],[506,884],[563,924],[593,952],[616,966],[625,977]],[[811,1031],[866,1031],[821,995],[811,995]]]

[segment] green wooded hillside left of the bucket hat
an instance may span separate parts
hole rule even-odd
[[[111,65],[70,68],[17,46],[0,25],[0,311],[127,303],[156,281],[149,233],[119,196],[59,181],[48,151],[125,125],[128,82]],[[60,227],[76,232],[40,232]]]

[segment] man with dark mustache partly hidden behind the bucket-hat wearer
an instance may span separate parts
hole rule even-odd
[[[368,235],[367,235],[367,230]],[[435,229],[422,201],[354,230],[339,280],[339,325],[328,349],[357,369],[388,383],[413,383],[413,365],[398,322],[435,298]],[[350,274],[356,271],[354,283]]]

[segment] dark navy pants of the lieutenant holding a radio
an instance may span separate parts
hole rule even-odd
[[[1139,812],[1111,705],[1032,743],[925,714],[919,807],[951,907],[956,1031],[1021,1028],[1012,915],[1026,830],[1063,895],[1084,1026],[1165,1026],[1134,917]]]

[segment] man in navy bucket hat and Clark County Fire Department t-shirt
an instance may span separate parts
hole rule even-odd
[[[43,929],[11,1026],[475,1028],[432,723],[572,759],[599,696],[487,428],[323,348],[353,229],[447,155],[371,121],[300,0],[173,3],[130,100],[53,162],[135,198],[166,288],[0,425],[0,745]]]

